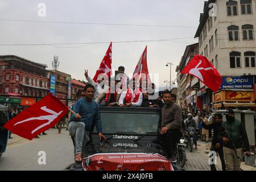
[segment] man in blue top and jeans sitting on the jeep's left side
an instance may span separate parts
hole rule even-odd
[[[89,141],[89,131],[93,131],[94,126],[96,126],[100,139],[106,140],[101,133],[100,109],[98,104],[93,101],[94,86],[88,84],[84,90],[85,97],[80,98],[73,105],[73,111],[77,115],[72,114],[68,125],[69,134],[75,138],[76,143],[75,162],[82,162],[82,142],[84,137],[87,142]]]

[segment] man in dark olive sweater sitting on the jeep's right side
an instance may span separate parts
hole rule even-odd
[[[174,94],[170,91],[163,92],[164,107],[162,108],[162,124],[160,137],[162,138],[170,162],[175,163],[176,143],[183,135],[182,110],[174,103]]]

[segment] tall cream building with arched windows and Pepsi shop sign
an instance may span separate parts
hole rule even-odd
[[[199,38],[199,53],[213,63],[223,82],[216,93],[200,82],[200,92],[205,92],[203,109],[255,106],[255,2],[210,0],[204,3],[195,38]],[[215,3],[214,11],[210,10],[211,3]]]

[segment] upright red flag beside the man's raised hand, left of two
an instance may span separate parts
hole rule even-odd
[[[101,61],[100,68],[98,68],[96,75],[93,77],[94,82],[98,82],[98,76],[100,74],[111,76],[111,64],[112,64],[112,42],[109,45],[108,51],[106,52],[103,60]],[[102,76],[103,76],[102,75]]]

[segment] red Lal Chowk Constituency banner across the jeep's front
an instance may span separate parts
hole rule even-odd
[[[82,160],[85,171],[174,171],[159,154],[94,154]]]

